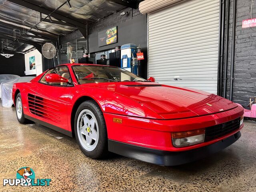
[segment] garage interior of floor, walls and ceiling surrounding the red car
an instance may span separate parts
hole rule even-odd
[[[51,179],[50,186],[30,191],[256,191],[256,27],[243,26],[256,17],[254,3],[0,0],[1,180],[29,166],[36,178]],[[113,27],[116,42],[100,45],[100,33]],[[45,44],[54,55],[44,52]],[[135,67],[124,67],[125,45],[143,53]],[[14,83],[70,62],[118,66],[160,84],[222,96],[244,108],[242,136],[212,156],[178,166],[114,153],[90,159],[75,138],[38,123],[20,124],[10,99]],[[0,185],[1,191],[19,188]]]

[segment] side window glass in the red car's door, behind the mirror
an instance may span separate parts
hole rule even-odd
[[[71,82],[71,78],[70,78],[70,74],[68,72],[68,68],[66,66],[60,66],[60,67],[56,67],[52,70],[49,70],[48,72],[46,72],[46,74],[44,74],[44,76],[42,77],[42,79],[40,80],[40,82],[42,83],[45,83],[45,84],[49,84],[49,85],[55,85],[55,86],[68,86],[67,83],[64,83],[64,82],[46,82],[45,81],[45,76],[47,74],[50,74],[50,73],[55,73],[55,74],[58,74],[66,79],[69,80],[69,82]]]

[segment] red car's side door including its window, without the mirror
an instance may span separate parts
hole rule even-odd
[[[46,82],[45,76],[50,73],[56,73],[69,79],[69,83]],[[35,116],[46,123],[71,131],[68,127],[67,105],[70,102],[70,88],[73,87],[73,83],[68,67],[58,66],[46,74],[37,82],[36,100],[38,101],[38,108]]]

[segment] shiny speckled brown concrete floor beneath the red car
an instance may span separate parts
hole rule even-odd
[[[238,142],[197,162],[162,167],[112,154],[92,160],[74,138],[39,124],[19,124],[14,108],[0,107],[0,191],[256,191],[256,122],[245,122]],[[23,166],[50,186],[3,186]]]

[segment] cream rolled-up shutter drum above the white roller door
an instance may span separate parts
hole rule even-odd
[[[139,4],[139,10],[142,14],[152,13],[170,5],[176,4],[182,0],[144,0]]]

